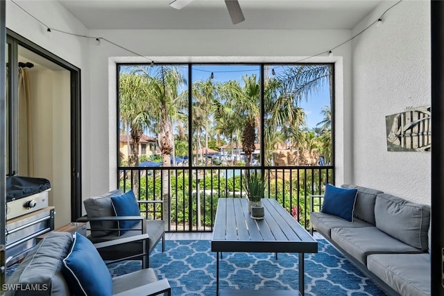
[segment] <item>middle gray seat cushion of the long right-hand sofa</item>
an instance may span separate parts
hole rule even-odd
[[[355,259],[367,264],[369,254],[419,253],[411,245],[385,234],[377,227],[334,228],[332,241]]]

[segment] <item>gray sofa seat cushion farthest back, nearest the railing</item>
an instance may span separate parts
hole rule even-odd
[[[373,227],[370,223],[366,221],[359,220],[358,218],[353,219],[353,222],[344,220],[337,216],[330,214],[325,214],[321,212],[314,212],[310,214],[311,227],[321,232],[323,235],[332,237],[332,228],[358,228],[358,227]]]

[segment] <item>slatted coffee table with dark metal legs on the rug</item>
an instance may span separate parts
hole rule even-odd
[[[299,253],[299,293],[304,295],[304,253],[317,253],[318,242],[276,200],[263,198],[262,204],[265,218],[255,220],[250,218],[246,198],[219,198],[211,241],[216,252],[216,295],[259,295],[258,291],[219,291],[220,252]],[[273,290],[273,295],[290,293]]]

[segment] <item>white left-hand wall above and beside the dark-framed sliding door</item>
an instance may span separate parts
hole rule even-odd
[[[62,31],[87,35],[88,29],[71,15],[58,1],[17,1],[26,11],[46,26]],[[81,69],[81,100],[82,100],[82,166],[83,184],[82,195],[88,197],[91,175],[89,172],[89,158],[94,157],[89,150],[89,64],[87,40],[82,37],[65,35],[56,31],[52,37],[46,32],[46,27],[27,15],[14,3],[6,0],[6,28],[22,35],[28,40],[41,46],[47,51],[58,55]],[[87,137],[85,138],[85,135]],[[68,150],[69,151],[69,150]],[[69,159],[69,155],[65,154]],[[69,164],[70,166],[70,164]],[[70,193],[69,193],[70,194]],[[63,207],[69,209],[70,203],[64,202]],[[60,207],[58,207],[60,208]],[[56,209],[57,210],[57,209]],[[69,210],[70,211],[70,210]],[[65,215],[65,214],[63,214]],[[70,214],[69,214],[70,215]],[[69,218],[69,217],[68,217]]]

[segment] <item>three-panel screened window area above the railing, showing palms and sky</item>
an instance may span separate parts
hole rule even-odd
[[[132,143],[121,161],[138,166],[151,137],[164,165],[330,166],[332,75],[332,64],[120,64],[119,133]]]

